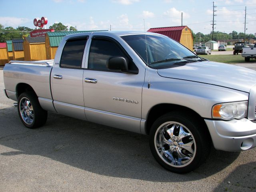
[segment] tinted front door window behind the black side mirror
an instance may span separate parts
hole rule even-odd
[[[108,70],[106,64],[112,56],[125,57],[114,42],[104,39],[92,39],[88,68],[96,70]]]

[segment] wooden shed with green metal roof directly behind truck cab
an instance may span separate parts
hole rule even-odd
[[[57,48],[66,35],[85,33],[94,31],[59,31],[59,32],[47,32],[45,36],[45,48],[46,48],[46,59],[54,59]]]

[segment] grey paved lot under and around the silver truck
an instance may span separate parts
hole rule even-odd
[[[241,64],[256,69],[256,63]],[[164,170],[148,136],[48,113],[30,130],[3,93],[0,67],[0,191],[256,191],[256,149],[212,150],[188,174]]]

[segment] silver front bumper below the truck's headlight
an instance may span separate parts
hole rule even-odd
[[[256,147],[256,123],[246,118],[204,121],[217,150],[242,151]]]

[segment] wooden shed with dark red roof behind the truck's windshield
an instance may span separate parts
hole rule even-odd
[[[150,28],[148,32],[166,35],[193,50],[193,36],[188,26]]]

